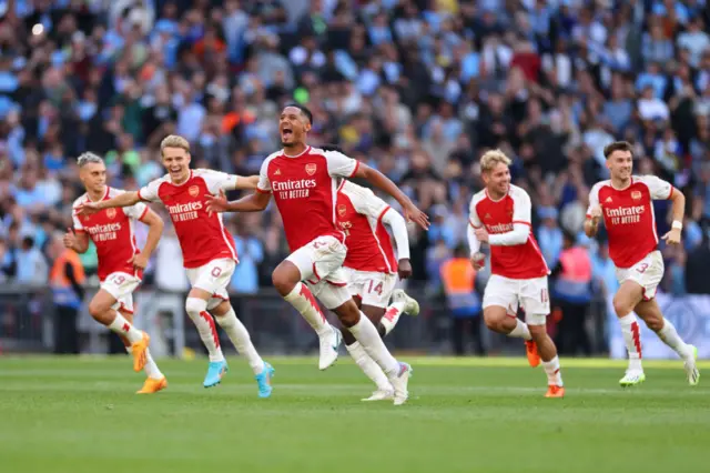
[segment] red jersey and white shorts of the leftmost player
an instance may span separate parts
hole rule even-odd
[[[106,187],[102,200],[122,193],[124,191]],[[133,313],[133,291],[141,283],[143,274],[135,271],[129,261],[140,253],[135,244],[135,221],[145,217],[148,207],[139,202],[122,209],[104,209],[93,215],[77,214],[77,207],[89,201],[89,195],[84,193],[72,204],[74,231],[88,233],[97,246],[101,289],[116,300],[111,309]]]

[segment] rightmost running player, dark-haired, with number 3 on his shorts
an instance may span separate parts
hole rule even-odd
[[[681,340],[676,328],[663,318],[656,290],[663,279],[663,258],[658,251],[653,200],[672,201],[672,229],[663,235],[669,244],[680,243],[686,197],[670,183],[655,175],[632,175],[632,147],[617,141],[604,149],[610,178],[598,182],[589,193],[585,232],[595,236],[604,219],[609,235],[609,256],[616,266],[619,290],[613,310],[619,318],[623,342],[629,352],[629,366],[619,384],[630,386],[646,380],[641,365],[641,335],[636,312],[668,346],[683,360],[690,385],[698,384],[698,350]]]

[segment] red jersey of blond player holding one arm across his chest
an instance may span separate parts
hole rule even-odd
[[[531,225],[530,197],[517,185],[510,185],[500,200],[493,200],[486,190],[470,200],[470,224],[478,229],[486,225],[489,234],[513,231],[515,223]],[[509,279],[534,279],[549,274],[542,252],[535,240],[532,229],[523,244],[490,245],[490,272]]]

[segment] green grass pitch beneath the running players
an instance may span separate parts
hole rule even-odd
[[[242,360],[215,389],[206,361],[162,361],[170,388],[133,394],[128,358],[0,358],[0,472],[669,472],[710,471],[708,379],[647,362],[568,360],[564,400],[525,360],[406,359],[402,407],[363,403],[372,386],[345,356],[271,359],[274,395],[256,397]]]

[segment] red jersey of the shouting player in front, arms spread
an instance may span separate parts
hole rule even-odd
[[[291,251],[318,236],[345,241],[335,218],[337,178],[354,175],[358,165],[343,153],[312,147],[296,157],[278,151],[264,160],[256,191],[274,194]]]

